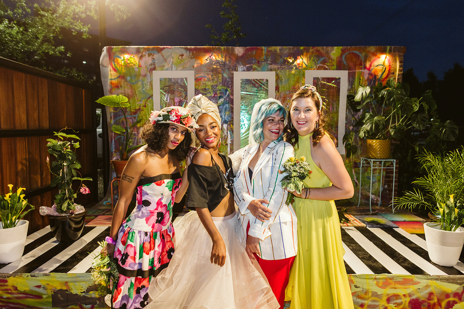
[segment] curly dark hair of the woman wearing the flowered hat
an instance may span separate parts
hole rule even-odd
[[[158,152],[162,151],[169,141],[169,124],[158,123],[152,125],[149,121],[145,123],[142,128],[140,137],[147,143],[151,150]],[[175,149],[171,150],[171,155],[179,161],[182,161],[187,157],[187,153],[190,150],[190,143],[192,142],[192,136],[189,132],[185,134],[184,139],[180,142]]]

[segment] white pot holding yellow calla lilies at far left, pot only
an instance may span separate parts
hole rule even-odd
[[[0,222],[0,263],[11,263],[21,258],[26,244],[29,221],[19,220],[16,227],[3,228]]]

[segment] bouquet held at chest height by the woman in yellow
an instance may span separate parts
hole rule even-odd
[[[297,159],[295,157],[290,157],[284,162],[283,166],[284,170],[279,170],[279,173],[287,173],[287,175],[281,180],[282,188],[301,194],[303,180],[312,173],[309,164],[306,162],[306,158],[301,157]],[[285,204],[290,205],[292,199],[293,194],[289,192]]]

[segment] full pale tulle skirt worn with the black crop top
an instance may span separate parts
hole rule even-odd
[[[213,242],[196,211],[174,224],[175,252],[168,267],[153,278],[148,309],[279,308],[256,260],[248,258],[235,213],[213,217],[226,244],[226,264],[211,263]]]

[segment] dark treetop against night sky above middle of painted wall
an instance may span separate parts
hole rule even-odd
[[[211,24],[207,24],[206,28],[211,29],[212,34],[209,35],[211,38],[211,44],[213,46],[227,46],[227,42],[233,41],[235,42],[236,46],[239,46],[238,40],[240,38],[245,38],[246,33],[242,33],[242,27],[240,26],[240,22],[238,22],[238,15],[235,13],[235,9],[237,8],[236,5],[232,4],[236,0],[225,0],[222,4],[222,7],[226,7],[228,9],[228,13],[225,11],[221,11],[219,14],[222,18],[228,19],[226,23],[222,26],[224,32],[219,35],[219,33],[214,29],[214,26]]]

